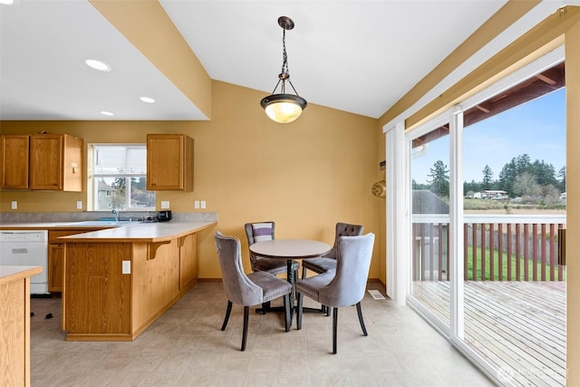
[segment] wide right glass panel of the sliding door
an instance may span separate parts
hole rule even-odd
[[[463,337],[507,384],[565,385],[563,72],[464,112]]]

